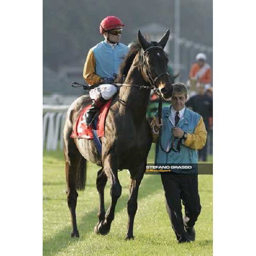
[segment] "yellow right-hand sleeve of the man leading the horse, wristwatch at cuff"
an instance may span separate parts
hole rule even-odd
[[[189,148],[202,149],[206,143],[207,131],[205,129],[204,121],[201,116],[194,134],[189,134],[186,138],[184,145]]]

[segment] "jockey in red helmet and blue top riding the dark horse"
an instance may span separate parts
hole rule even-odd
[[[96,113],[117,92],[111,83],[119,73],[119,66],[128,52],[128,47],[120,43],[122,28],[125,25],[115,16],[108,16],[99,25],[105,40],[91,48],[84,64],[84,80],[89,85],[100,84],[89,91],[93,104],[85,114],[90,125]]]

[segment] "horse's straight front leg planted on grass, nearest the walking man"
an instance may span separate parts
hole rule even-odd
[[[138,192],[141,180],[143,179],[143,175],[145,173],[145,164],[142,164],[138,168],[134,168],[130,170],[131,173],[131,180],[130,180],[130,187],[129,192],[130,196],[127,202],[127,212],[128,212],[128,226],[127,226],[127,235],[126,240],[134,239],[133,235],[133,226],[134,226],[134,218],[137,212],[137,199],[138,199]]]

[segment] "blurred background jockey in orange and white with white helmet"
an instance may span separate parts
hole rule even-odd
[[[205,85],[205,89],[211,86],[211,68],[206,61],[206,55],[204,53],[198,53],[195,57],[196,63],[194,63],[190,69],[189,78],[195,79]]]

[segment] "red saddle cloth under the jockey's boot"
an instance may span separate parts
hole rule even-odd
[[[105,119],[108,114],[112,99],[110,99],[100,110],[98,122],[97,122],[97,135],[98,137],[103,137],[105,135]],[[93,139],[93,128],[92,125],[87,126],[85,123],[84,114],[91,107],[91,104],[85,107],[76,121],[76,126],[73,129],[71,138],[84,138],[84,139]]]

